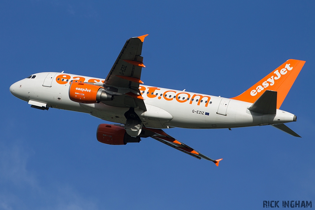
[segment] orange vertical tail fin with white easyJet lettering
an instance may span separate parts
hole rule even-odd
[[[278,92],[279,109],[304,64],[303,60],[287,60],[244,93],[231,99],[254,103],[266,90],[273,90]]]

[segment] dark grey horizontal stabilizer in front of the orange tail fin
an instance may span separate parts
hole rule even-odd
[[[260,114],[277,114],[277,91],[266,90],[248,109]]]

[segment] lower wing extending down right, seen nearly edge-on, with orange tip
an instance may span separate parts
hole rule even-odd
[[[205,159],[205,160],[209,160],[215,163],[216,166],[219,166],[219,162],[221,159],[218,160],[213,160],[203,154],[201,154],[200,152],[192,149],[190,146],[185,145],[184,143],[178,141],[177,139],[171,137],[170,135],[168,135],[167,133],[165,133],[163,130],[161,129],[155,129],[155,128],[145,128],[143,127],[142,130],[144,130],[144,132],[141,132],[140,137],[151,137],[153,139],[156,139],[166,145],[169,145],[173,148],[175,148],[176,150],[180,150],[182,152],[185,152],[188,155],[191,155],[193,157],[196,157],[198,159]]]

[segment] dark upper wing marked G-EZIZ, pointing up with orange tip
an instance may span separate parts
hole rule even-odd
[[[107,105],[139,107],[146,111],[139,84],[143,83],[140,80],[142,67],[146,67],[141,52],[147,35],[130,38],[123,46],[104,82],[107,92],[115,95],[112,101],[106,102]]]

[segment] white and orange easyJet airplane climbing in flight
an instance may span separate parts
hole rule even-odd
[[[165,133],[166,128],[240,128],[272,125],[301,137],[284,123],[296,116],[280,110],[305,61],[287,60],[233,98],[143,85],[141,56],[145,37],[128,39],[106,79],[41,72],[15,82],[10,92],[32,108],[88,113],[119,124],[100,124],[97,140],[109,145],[139,143],[151,137],[198,159],[214,160]]]

